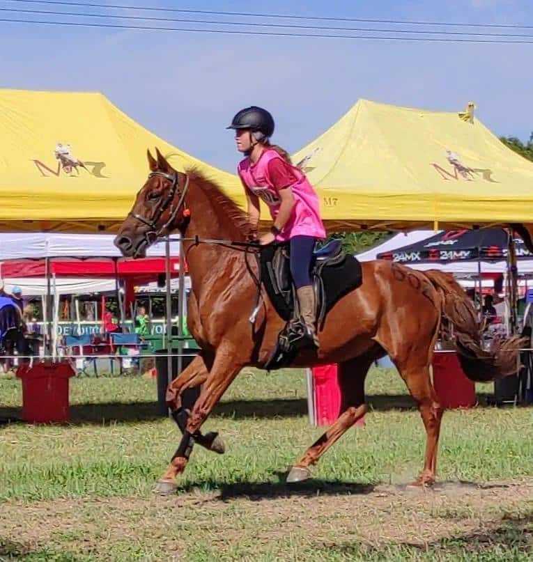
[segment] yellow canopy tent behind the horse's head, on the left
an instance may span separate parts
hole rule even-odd
[[[113,231],[146,181],[146,149],[244,201],[235,175],[141,127],[100,93],[0,90],[0,230]]]

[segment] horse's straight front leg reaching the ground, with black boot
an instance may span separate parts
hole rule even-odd
[[[169,468],[157,483],[155,492],[158,494],[169,494],[176,489],[176,476],[181,474],[187,466],[192,445],[194,444],[194,436],[198,435],[202,423],[206,421],[244,364],[245,361],[236,359],[233,346],[224,346],[217,350],[213,368],[209,373],[206,383],[203,385],[199,398],[194,403],[190,416],[188,416],[180,446],[176,453],[174,453]]]

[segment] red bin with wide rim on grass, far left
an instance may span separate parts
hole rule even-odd
[[[68,363],[21,365],[22,418],[29,423],[68,421],[68,380],[75,375]]]

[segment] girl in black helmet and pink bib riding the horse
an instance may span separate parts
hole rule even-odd
[[[245,187],[250,221],[257,229],[262,199],[274,224],[261,236],[260,244],[289,242],[291,275],[296,286],[300,314],[307,327],[309,345],[318,348],[316,303],[311,285],[311,258],[316,240],[325,238],[320,205],[305,174],[291,164],[285,150],[270,144],[274,119],[266,109],[247,107],[233,117],[237,150],[246,157],[238,165]]]

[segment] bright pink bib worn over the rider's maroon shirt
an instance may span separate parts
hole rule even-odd
[[[275,150],[265,148],[255,164],[252,164],[249,157],[246,157],[239,163],[237,169],[240,179],[247,189],[268,205],[272,219],[277,217],[281,203],[278,194],[279,186],[274,184],[268,172],[268,163],[275,159],[281,159],[285,163]],[[290,164],[286,165],[290,166]],[[291,187],[294,195],[293,212],[276,240],[286,242],[295,236],[302,235],[325,238],[325,228],[320,219],[318,195],[300,169],[291,166],[291,170],[296,181],[290,186],[284,185],[283,187]]]

